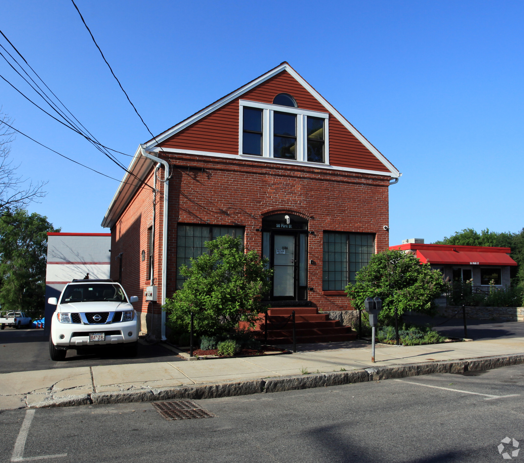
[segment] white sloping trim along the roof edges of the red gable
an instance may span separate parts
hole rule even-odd
[[[274,69],[271,69],[262,76],[243,85],[243,87],[225,95],[220,100],[217,100],[214,103],[211,103],[209,106],[204,107],[204,109],[200,110],[199,112],[196,112],[192,116],[189,116],[187,119],[184,119],[177,125],[169,128],[167,131],[162,132],[155,138],[150,139],[147,143],[145,143],[146,150],[152,150],[154,148],[156,148],[155,150],[158,150],[158,147],[162,144],[162,142],[167,141],[173,135],[176,135],[177,133],[183,131],[184,129],[188,128],[194,123],[200,121],[204,117],[219,110],[224,105],[241,97],[243,94],[249,92],[261,83],[271,79],[272,77],[275,77],[282,71],[287,71],[295,80],[297,80],[302,85],[302,87],[313,96],[315,100],[317,100],[329,113],[331,113],[336,120],[338,120],[359,142],[362,143],[362,145],[364,145],[369,150],[370,153],[372,153],[380,161],[381,164],[383,164],[386,167],[387,172],[384,172],[385,175],[390,175],[392,178],[398,178],[400,176],[398,169],[393,164],[391,164],[390,161],[386,159],[386,157],[382,153],[380,153],[379,150],[375,146],[373,146],[373,144],[370,143],[366,137],[364,137],[364,135],[362,135],[358,130],[356,130],[356,128],[349,121],[347,121],[342,114],[340,114],[327,100],[325,100],[323,96],[319,92],[317,92],[312,87],[312,85],[305,81],[305,79],[303,79],[302,76],[300,76],[300,74],[297,71],[295,71],[286,61],[282,62],[281,64],[279,64],[279,66],[277,66]],[[351,168],[344,168],[344,170],[361,171],[361,169]]]

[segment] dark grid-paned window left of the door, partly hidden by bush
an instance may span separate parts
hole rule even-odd
[[[212,241],[219,236],[240,236],[244,241],[244,229],[241,227],[209,227],[207,225],[178,225],[177,233],[177,289],[184,284],[185,278],[180,274],[182,264],[191,266],[191,257],[207,254],[206,241]]]

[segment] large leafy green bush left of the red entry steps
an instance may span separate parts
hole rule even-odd
[[[232,333],[239,321],[250,326],[268,306],[262,297],[269,291],[271,270],[267,259],[256,251],[244,252],[241,238],[225,235],[208,241],[209,254],[191,259],[180,273],[187,280],[163,306],[169,326],[175,332],[187,332],[191,312],[199,336]]]

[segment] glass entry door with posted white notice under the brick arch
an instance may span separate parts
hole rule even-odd
[[[275,234],[273,246],[273,296],[294,297],[295,265],[294,256],[295,236]]]

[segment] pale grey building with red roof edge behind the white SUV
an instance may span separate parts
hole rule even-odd
[[[47,300],[58,297],[65,284],[88,273],[89,278],[109,278],[110,260],[111,233],[47,233],[46,332],[56,309]]]

